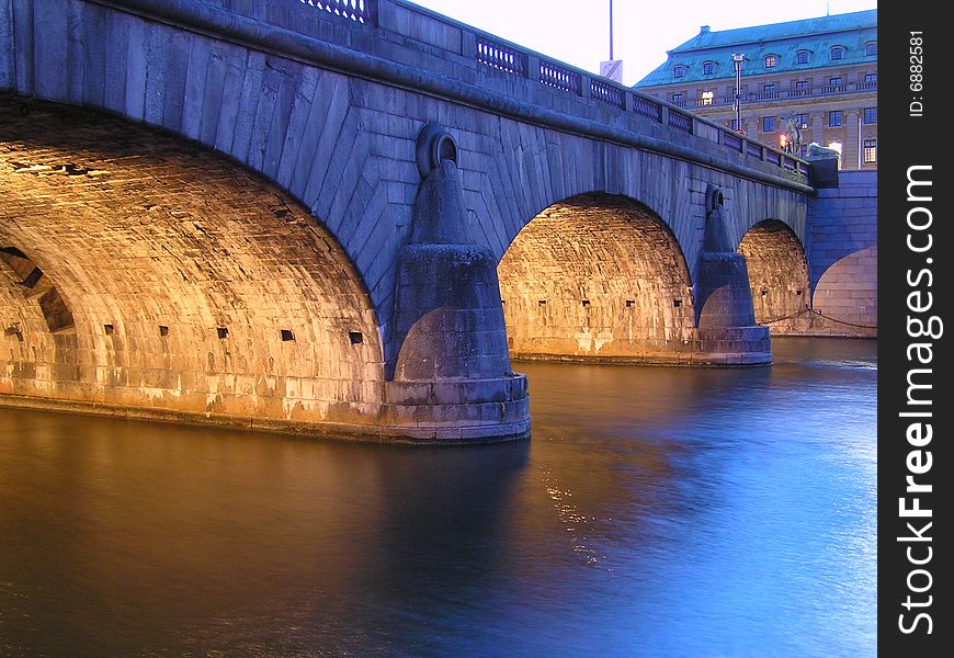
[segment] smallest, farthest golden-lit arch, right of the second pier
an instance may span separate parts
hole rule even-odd
[[[756,321],[772,333],[802,333],[811,321],[808,263],[798,236],[784,222],[752,226],[738,248],[746,257]]]

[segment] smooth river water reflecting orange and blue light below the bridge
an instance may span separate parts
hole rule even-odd
[[[0,656],[874,656],[876,343],[773,343],[484,447],[0,409]]]

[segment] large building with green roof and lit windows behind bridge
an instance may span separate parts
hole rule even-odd
[[[787,141],[796,155],[817,143],[841,154],[842,169],[877,168],[876,9],[722,32],[703,25],[667,54],[636,88],[776,148]]]

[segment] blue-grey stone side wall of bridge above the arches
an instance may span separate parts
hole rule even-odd
[[[386,3],[379,19],[390,27],[377,32],[294,0],[0,5],[16,26],[0,80],[16,93],[100,107],[197,140],[319,217],[367,285],[388,361],[399,349],[389,340],[395,263],[420,183],[414,140],[427,122],[456,138],[474,231],[498,258],[541,211],[588,192],[654,208],[691,273],[709,183],[726,191],[737,240],[751,217],[780,217],[804,234],[805,191],[762,180],[777,177],[777,167],[478,64],[473,33],[425,20],[427,12],[411,18]],[[157,18],[147,18],[152,11]],[[224,33],[183,29],[167,13]],[[650,150],[633,146],[643,144]],[[672,149],[685,159],[663,152]]]

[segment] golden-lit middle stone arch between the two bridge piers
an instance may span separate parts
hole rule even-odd
[[[695,341],[692,283],[667,225],[621,195],[541,212],[498,265],[516,359],[671,362]]]

